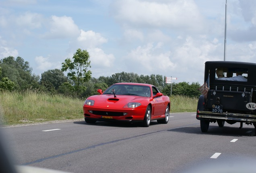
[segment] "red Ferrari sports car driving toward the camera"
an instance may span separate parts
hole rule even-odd
[[[83,111],[85,122],[130,121],[149,127],[150,121],[169,121],[170,99],[151,84],[116,83],[100,95],[88,97]]]

